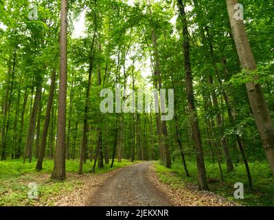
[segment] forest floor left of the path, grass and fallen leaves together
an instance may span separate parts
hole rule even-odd
[[[87,161],[83,165],[84,174],[79,175],[79,162],[67,160],[67,179],[55,181],[50,179],[52,159],[44,160],[41,172],[35,171],[36,159],[25,164],[23,159],[6,160],[0,162],[0,206],[83,206],[93,190],[119,168],[135,163],[123,159],[121,163],[115,161],[113,168],[105,164],[91,173],[93,162]],[[37,199],[29,199],[28,193],[33,189],[29,184],[36,184]]]

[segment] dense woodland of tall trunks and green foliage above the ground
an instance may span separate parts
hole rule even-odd
[[[249,188],[273,186],[273,1],[242,0],[244,23],[229,22],[235,0],[32,2],[37,20],[29,1],[0,1],[2,161],[41,170],[54,159],[52,177],[65,179],[65,159],[78,173],[87,161],[95,171],[159,159],[202,190],[238,167]],[[83,12],[86,34],[75,37]],[[101,113],[100,90],[117,83],[174,89],[174,119]]]

